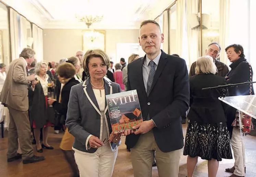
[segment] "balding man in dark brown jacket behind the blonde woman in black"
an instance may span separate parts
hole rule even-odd
[[[216,75],[225,77],[225,75],[227,75],[229,72],[228,66],[220,62],[219,60],[216,60],[216,58],[218,58],[220,55],[220,50],[221,48],[219,44],[216,42],[213,42],[208,45],[208,48],[205,50],[205,55],[209,55],[214,59],[214,63],[218,69],[218,72],[216,73]],[[196,62],[192,63],[191,65],[190,72],[189,72],[190,77],[195,75],[195,68],[196,68]]]

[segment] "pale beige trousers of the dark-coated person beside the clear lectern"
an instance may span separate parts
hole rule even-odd
[[[235,158],[234,174],[237,176],[245,176],[245,172],[244,172],[244,167],[245,167],[244,141],[241,137],[240,129],[237,127],[233,128],[230,144],[233,149],[234,158]]]

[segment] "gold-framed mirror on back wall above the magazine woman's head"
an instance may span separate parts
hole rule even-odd
[[[83,51],[101,49],[106,51],[106,31],[83,30]]]

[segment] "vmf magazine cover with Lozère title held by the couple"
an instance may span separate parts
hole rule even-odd
[[[143,121],[136,90],[106,95],[114,133],[121,133]]]

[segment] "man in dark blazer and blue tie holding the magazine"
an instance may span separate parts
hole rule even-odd
[[[146,55],[128,65],[127,90],[137,90],[144,120],[133,127],[136,131],[124,132],[134,177],[151,176],[154,153],[159,176],[179,173],[181,115],[189,105],[189,79],[185,60],[160,50],[163,40],[156,21],[143,21],[139,44]]]

